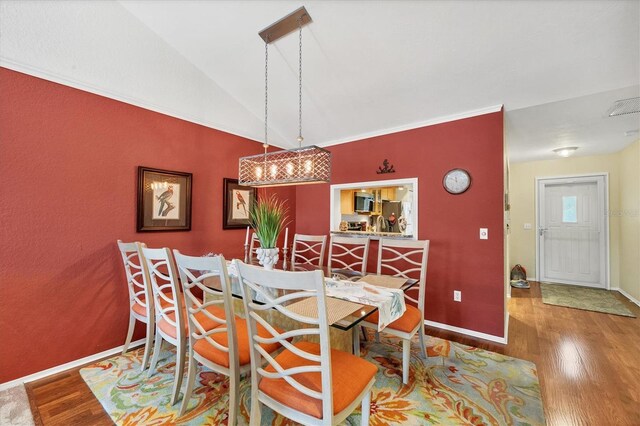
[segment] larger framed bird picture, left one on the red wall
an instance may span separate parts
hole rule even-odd
[[[138,232],[191,230],[191,173],[138,167]]]

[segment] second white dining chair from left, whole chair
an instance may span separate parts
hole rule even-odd
[[[174,405],[180,395],[187,347],[184,299],[179,289],[178,275],[171,251],[167,247],[158,249],[143,247],[142,255],[149,269],[156,312],[156,342],[149,366],[149,376],[155,372],[162,341],[165,340],[175,346],[175,377],[171,392],[171,405]]]

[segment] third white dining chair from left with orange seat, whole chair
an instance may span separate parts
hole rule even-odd
[[[223,256],[193,257],[173,251],[187,308],[189,367],[178,417],[186,412],[193,392],[197,364],[229,377],[229,425],[235,425],[240,376],[251,372],[249,333],[246,320],[234,314],[231,284]],[[202,294],[200,299],[199,294]],[[282,329],[276,328],[279,333]],[[273,337],[264,327],[262,338]],[[272,353],[277,343],[264,344]]]

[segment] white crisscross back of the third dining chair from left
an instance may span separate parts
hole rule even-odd
[[[178,250],[174,250],[173,255],[187,306],[189,344],[193,348],[199,340],[206,340],[211,346],[228,354],[229,370],[237,372],[238,337],[224,257],[185,256]],[[199,294],[202,294],[202,299]],[[211,309],[212,307],[219,309]],[[224,317],[217,315],[217,312],[224,312]],[[213,339],[212,336],[216,334],[228,335],[226,346]]]

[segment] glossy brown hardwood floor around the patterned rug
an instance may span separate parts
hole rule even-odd
[[[509,344],[435,328],[427,333],[532,361],[549,426],[640,424],[640,307],[627,318],[545,305],[540,287],[513,289]],[[26,385],[37,424],[110,425],[78,369]]]

